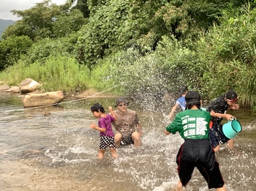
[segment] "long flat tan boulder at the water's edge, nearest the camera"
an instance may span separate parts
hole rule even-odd
[[[64,95],[60,90],[48,93],[31,93],[25,95],[23,106],[24,108],[51,106],[60,103],[63,99]]]

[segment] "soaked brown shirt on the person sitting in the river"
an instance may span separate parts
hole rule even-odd
[[[127,109],[126,113],[122,113],[119,110],[113,112],[115,113],[115,121],[112,124],[115,127],[115,131],[123,136],[128,136],[137,130],[138,115],[136,111]]]

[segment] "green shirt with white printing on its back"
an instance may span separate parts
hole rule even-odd
[[[166,130],[172,134],[177,131],[183,139],[209,139],[208,130],[211,115],[201,109],[187,109],[177,114]]]

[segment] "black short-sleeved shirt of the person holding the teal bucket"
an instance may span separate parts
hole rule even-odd
[[[229,105],[226,103],[224,95],[221,95],[219,98],[216,98],[216,100],[211,102],[206,108],[209,112],[214,111],[216,113],[226,113],[228,107]],[[222,119],[223,118],[211,116],[211,121],[213,121],[213,124],[221,124]]]

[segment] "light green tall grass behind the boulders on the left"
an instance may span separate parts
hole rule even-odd
[[[19,85],[25,78],[32,78],[41,83],[43,90],[63,90],[80,92],[90,85],[90,71],[84,65],[79,65],[72,57],[60,55],[50,56],[44,63],[35,62],[27,65],[19,60],[17,65],[0,73],[0,79],[9,85]]]

